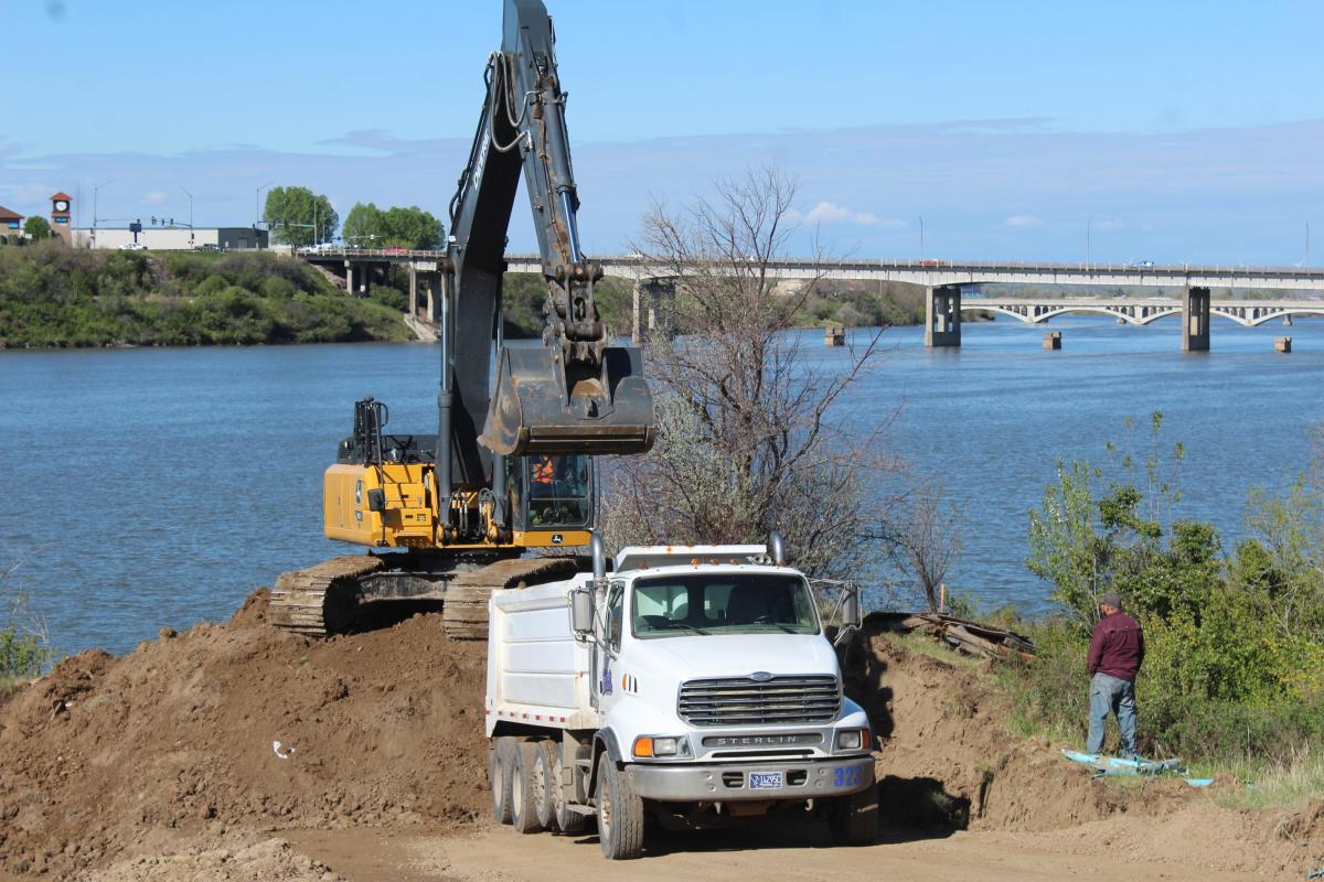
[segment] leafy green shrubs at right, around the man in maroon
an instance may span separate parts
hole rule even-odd
[[[1161,415],[1152,426],[1157,440]],[[1317,495],[1301,485],[1283,497],[1253,493],[1249,522],[1260,537],[1227,557],[1211,525],[1172,516],[1180,492],[1164,476],[1174,468],[1153,450],[1143,483],[1129,455],[1117,459],[1120,473],[1059,464],[1057,484],[1030,513],[1029,566],[1054,582],[1064,615],[1022,625],[1038,657],[1022,677],[1005,680],[1018,713],[1083,738],[1090,631],[1098,595],[1112,588],[1145,632],[1136,681],[1143,752],[1279,760],[1319,743],[1324,506]],[[1180,456],[1177,446],[1173,463]],[[1100,485],[1106,492],[1096,496]]]

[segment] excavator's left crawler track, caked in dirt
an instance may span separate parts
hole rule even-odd
[[[381,567],[381,559],[357,554],[283,573],[271,588],[267,621],[310,637],[347,631],[359,607],[359,579]]]

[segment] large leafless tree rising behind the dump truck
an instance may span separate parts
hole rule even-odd
[[[681,336],[646,353],[658,440],[609,469],[610,543],[763,542],[779,530],[810,575],[858,575],[884,505],[873,479],[895,461],[879,450],[888,421],[846,431],[842,397],[878,361],[883,329],[857,332],[831,364],[790,333],[817,287],[786,291],[769,271],[794,230],[794,181],[764,169],[645,218],[634,249],[673,280]]]

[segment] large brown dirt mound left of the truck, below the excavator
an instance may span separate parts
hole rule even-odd
[[[477,816],[486,644],[448,640],[440,615],[324,641],[263,616],[258,594],[229,624],[123,659],[83,652],[15,696],[0,713],[0,871],[66,877],[159,848],[162,829]]]

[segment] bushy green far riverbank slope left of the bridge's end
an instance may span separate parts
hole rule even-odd
[[[0,249],[0,349],[412,339],[375,292],[270,253]]]

